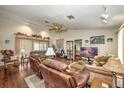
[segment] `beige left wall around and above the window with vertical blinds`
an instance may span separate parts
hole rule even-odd
[[[16,16],[6,11],[0,11],[0,49],[11,49],[15,50],[15,37],[14,33],[22,32],[26,34],[41,34],[42,36],[50,36],[50,46],[52,45],[54,38],[50,35],[44,25],[38,24],[36,22],[29,21],[20,16]],[[5,44],[5,40],[10,40],[10,43]]]

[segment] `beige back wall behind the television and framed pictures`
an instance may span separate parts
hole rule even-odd
[[[82,47],[98,47],[99,55],[112,53],[117,56],[117,34],[118,29],[84,29],[70,30],[62,34],[56,34],[57,38],[64,38],[64,48],[67,40],[82,39]],[[86,44],[84,40],[89,40],[91,36],[105,35],[105,44]],[[107,42],[107,38],[113,38],[113,42]]]

